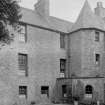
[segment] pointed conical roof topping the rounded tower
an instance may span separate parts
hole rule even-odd
[[[77,18],[77,21],[71,28],[71,32],[79,30],[81,28],[97,28],[100,30],[105,30],[103,24],[103,20],[93,13],[88,1],[86,0]]]

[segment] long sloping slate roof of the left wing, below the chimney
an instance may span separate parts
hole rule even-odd
[[[42,17],[36,10],[21,7],[22,19],[20,21],[32,25],[38,25],[45,28],[58,30],[61,32],[69,32],[73,23],[58,19],[56,17]]]

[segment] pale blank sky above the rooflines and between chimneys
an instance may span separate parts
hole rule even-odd
[[[92,10],[97,2],[102,2],[105,7],[105,0],[88,0]],[[20,5],[25,8],[34,9],[37,0],[20,0]],[[50,15],[67,21],[75,22],[85,0],[50,0]]]

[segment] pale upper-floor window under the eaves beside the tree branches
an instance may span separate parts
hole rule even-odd
[[[19,41],[26,42],[26,25],[19,25],[18,27]]]

